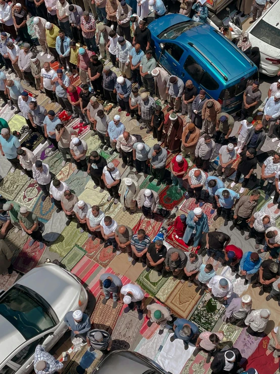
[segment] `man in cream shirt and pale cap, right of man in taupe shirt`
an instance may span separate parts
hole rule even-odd
[[[263,331],[266,328],[270,311],[268,309],[257,309],[253,310],[245,319],[246,336],[253,336],[255,340],[258,340],[259,336],[262,336]]]

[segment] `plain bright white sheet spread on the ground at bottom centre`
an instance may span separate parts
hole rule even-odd
[[[184,344],[181,339],[175,339],[173,343],[170,342],[170,337],[162,348],[157,363],[161,365],[166,371],[172,372],[172,374],[180,374],[186,361],[192,356],[196,347],[189,344],[189,349],[184,350]]]

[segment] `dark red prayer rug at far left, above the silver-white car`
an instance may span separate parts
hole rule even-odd
[[[16,260],[13,263],[14,269],[20,271],[21,273],[27,273],[31,269],[35,268],[44,254],[46,246],[40,250],[39,242],[35,241],[31,247],[29,247],[29,242],[31,238],[24,244],[22,250],[18,254]]]

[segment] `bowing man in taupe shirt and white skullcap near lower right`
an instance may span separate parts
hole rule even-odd
[[[242,298],[232,299],[225,309],[222,317],[226,323],[233,323],[239,327],[245,327],[245,319],[252,309],[252,298],[250,295],[243,295]]]

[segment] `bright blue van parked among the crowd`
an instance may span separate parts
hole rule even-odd
[[[258,68],[213,27],[181,14],[168,14],[149,24],[156,58],[169,74],[191,79],[207,97],[230,114],[241,109],[248,81]],[[163,45],[164,47],[163,47]]]

